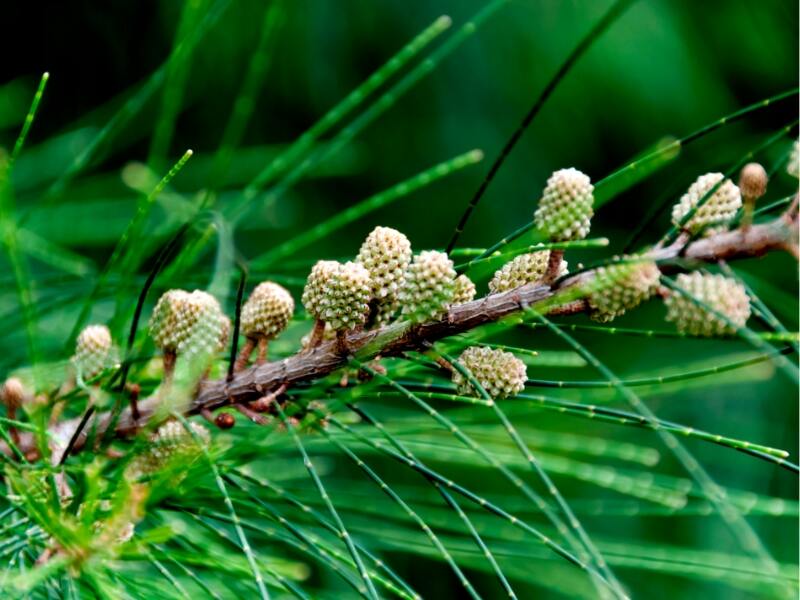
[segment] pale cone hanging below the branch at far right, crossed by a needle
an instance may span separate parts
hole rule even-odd
[[[744,327],[750,317],[750,299],[744,287],[734,279],[693,272],[678,275],[675,284],[727,317],[736,327]],[[664,304],[667,320],[674,322],[679,331],[708,337],[736,333],[735,327],[679,291],[670,292]]]

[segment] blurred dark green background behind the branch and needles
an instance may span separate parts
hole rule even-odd
[[[437,17],[449,15],[451,29],[455,30],[487,3],[286,2],[285,18],[277,25],[271,42],[266,74],[253,98],[252,116],[225,170],[217,206],[224,207],[240,196],[244,184],[277,151]],[[258,44],[265,3],[229,3],[200,39],[186,69],[175,73],[168,69],[168,84],[137,107],[86,169],[55,193],[53,183],[168,60],[176,36],[197,27],[213,4],[208,0],[42,1],[7,3],[3,7],[0,146],[6,150],[14,143],[39,75],[45,70],[51,74],[26,150],[14,172],[18,218],[27,230],[88,265],[85,275],[70,277],[65,283],[63,274],[52,265],[35,258],[30,261],[35,292],[43,307],[38,335],[43,351],[53,359],[68,355],[64,347],[80,308],[74,299],[88,292],[92,273],[96,272],[93,269],[103,265],[124,231],[141,197],[141,181],[160,177],[185,149],[195,151],[195,157],[158,201],[150,222],[154,231],[169,221],[171,211],[179,210],[181,203],[191,203],[209,185],[211,157],[219,147]],[[251,202],[247,217],[235,232],[237,251],[245,259],[257,256],[440,161],[481,149],[486,155],[482,163],[368,215],[291,258],[353,255],[363,236],[378,224],[404,231],[416,249],[443,247],[491,160],[536,95],[608,6],[606,1],[595,0],[508,2],[363,133],[287,190],[279,201],[266,202],[258,196]],[[437,41],[433,47],[440,44]],[[538,194],[555,169],[574,166],[593,180],[601,179],[660,141],[681,137],[746,105],[796,87],[797,49],[795,2],[635,2],[560,83],[489,188],[460,244],[485,247],[529,221]],[[174,95],[165,96],[165,89]],[[164,107],[170,102],[175,107],[174,131],[159,136],[156,132],[163,124]],[[660,203],[669,206],[702,173],[731,168],[797,114],[797,98],[793,97],[687,147],[675,160],[598,212],[593,234],[608,237],[608,248],[571,252],[568,259],[588,261],[621,252],[642,225],[645,227],[634,247],[654,242],[668,227],[668,211],[656,212],[649,223],[645,219],[658,211]],[[796,129],[756,157],[768,170],[778,170],[770,182],[770,200],[786,197],[796,189],[797,181],[780,168],[792,135],[796,136]],[[167,239],[169,231],[159,231],[161,239]],[[214,249],[210,248],[193,272],[192,281],[208,285],[214,260]],[[4,282],[0,290],[0,370],[7,370],[24,363],[26,357],[5,255],[0,265]],[[783,324],[797,331],[796,262],[788,255],[774,255],[735,266]],[[300,270],[292,271],[288,265],[286,269],[277,265],[275,270],[290,284],[302,284],[304,274]],[[145,275],[143,270],[141,279]],[[48,281],[64,287],[48,287]],[[173,283],[161,281],[158,286],[171,287]],[[479,289],[485,290],[486,278],[478,283]],[[130,292],[134,295],[135,284]],[[54,289],[71,296],[59,302],[53,297]],[[299,287],[293,291],[299,295]],[[104,296],[98,301],[93,319],[107,319],[113,312],[106,300]],[[226,301],[230,308],[232,297]],[[663,314],[661,306],[650,303],[619,324],[663,329],[667,327]],[[120,324],[120,333],[125,327],[127,324]],[[590,333],[584,333],[580,340],[619,374],[629,376],[691,370],[752,353],[746,344],[729,341],[648,340]],[[539,332],[531,333],[524,343],[534,349],[564,349],[558,340]],[[797,357],[790,358],[796,361]],[[576,373],[537,367],[535,361],[529,374],[542,379],[598,377],[591,369]],[[565,397],[580,401],[581,394],[570,392]],[[643,397],[662,418],[786,448],[797,458],[797,391],[769,362],[691,383],[649,387]],[[520,412],[518,418],[534,429],[591,431],[621,440],[647,440],[659,447],[647,433],[611,426],[598,430],[577,419],[565,423],[566,417],[543,413]],[[764,496],[796,499],[797,479],[793,474],[730,450],[687,443],[721,483]],[[663,448],[661,451],[659,468],[679,472]],[[568,496],[587,501],[593,498],[592,490],[585,486],[575,484],[573,489],[573,481],[561,483]],[[788,565],[797,561],[796,507],[794,511],[779,518],[752,518],[767,547]],[[664,545],[688,544],[700,551],[734,543],[721,521],[706,515],[678,519],[603,517],[590,523],[590,529],[600,536],[629,534],[631,540],[643,545],[649,539]],[[422,559],[408,559],[403,564],[403,553],[398,554],[401,570],[426,596],[459,596],[453,591],[452,576],[441,564]],[[680,569],[660,572],[621,568],[624,578],[633,582],[640,594],[647,590],[642,597],[737,597],[729,588],[680,573]],[[529,593],[541,591],[531,587]],[[548,593],[559,595],[558,589],[550,588]],[[751,594],[756,592],[738,593],[739,597],[754,597]]]

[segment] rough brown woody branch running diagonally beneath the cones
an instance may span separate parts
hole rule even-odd
[[[753,225],[747,231],[736,230],[701,239],[688,245],[673,244],[666,248],[654,249],[648,254],[657,261],[668,261],[675,258],[716,262],[761,256],[771,250],[796,252],[798,243],[797,215],[790,212],[770,223]],[[665,270],[672,267],[667,266]],[[422,325],[411,326],[408,323],[392,323],[372,331],[353,331],[344,339],[322,342],[314,348],[301,350],[297,354],[281,361],[256,365],[236,374],[231,381],[225,378],[203,382],[186,414],[211,411],[233,403],[248,418],[261,420],[263,417],[251,413],[247,403],[258,400],[271,390],[283,388],[303,381],[319,379],[344,367],[349,356],[367,361],[376,356],[398,356],[407,351],[422,349],[425,342],[432,342],[456,334],[469,331],[486,323],[492,323],[522,311],[525,307],[553,298],[564,288],[572,286],[591,277],[591,273],[581,273],[567,279],[557,288],[547,285],[529,284],[500,294],[492,294],[479,300],[454,306],[442,319]],[[548,314],[574,314],[587,309],[586,302],[570,297],[569,301],[548,307]],[[348,354],[342,353],[346,348]],[[140,419],[138,427],[147,421],[160,404],[160,398],[153,396],[138,405]],[[97,435],[102,435],[111,423],[111,415],[103,413],[97,419]],[[74,431],[78,420],[62,422],[58,425],[61,431]],[[130,409],[123,411],[116,425],[116,434],[125,436],[134,433],[137,421],[134,421]],[[86,433],[76,440],[75,449],[86,443]],[[23,453],[35,449],[33,435],[26,433],[20,436],[20,449]],[[0,450],[6,454],[10,451],[4,445]]]

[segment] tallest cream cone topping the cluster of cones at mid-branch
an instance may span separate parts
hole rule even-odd
[[[411,242],[390,227],[376,227],[361,244],[356,262],[364,265],[372,281],[372,297],[392,298],[403,287],[411,262]]]

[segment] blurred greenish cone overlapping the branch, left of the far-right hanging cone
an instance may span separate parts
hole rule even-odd
[[[607,322],[637,307],[656,292],[660,276],[652,261],[600,267],[588,296],[591,318]]]

